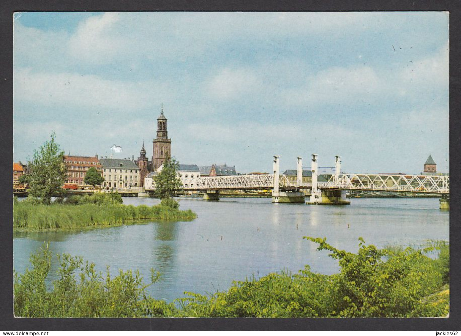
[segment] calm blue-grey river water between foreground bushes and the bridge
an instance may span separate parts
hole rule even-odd
[[[154,205],[151,198],[124,198],[124,204]],[[207,294],[228,289],[233,280],[270,272],[297,272],[310,265],[323,274],[339,271],[337,260],[303,236],[326,237],[331,245],[358,250],[358,237],[378,248],[449,240],[449,212],[438,199],[352,199],[350,206],[272,204],[266,198],[221,198],[219,202],[181,199],[181,209],[198,218],[187,222],[152,222],[80,232],[34,232],[14,236],[13,265],[22,273],[30,253],[50,242],[53,254],[81,255],[111,274],[138,269],[155,298],[172,301],[184,291]],[[349,224],[349,225],[348,225]],[[53,258],[50,281],[56,278]]]

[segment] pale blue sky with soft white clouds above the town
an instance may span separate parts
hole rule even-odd
[[[21,12],[13,159],[56,133],[66,154],[171,154],[237,172],[449,167],[447,12]]]

